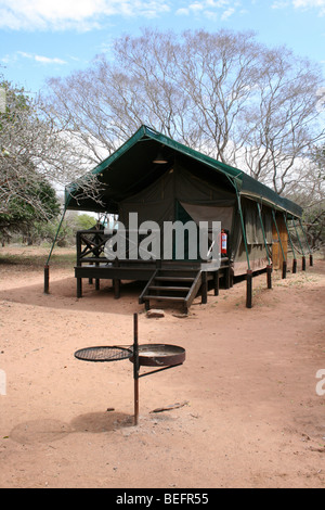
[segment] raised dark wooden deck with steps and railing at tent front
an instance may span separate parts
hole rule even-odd
[[[77,233],[77,297],[82,297],[82,280],[95,280],[100,289],[101,280],[112,280],[116,298],[120,297],[121,281],[143,281],[139,296],[150,309],[152,302],[181,304],[188,311],[194,298],[200,293],[202,302],[207,302],[209,284],[219,293],[220,279],[225,289],[232,286],[232,270],[227,258],[222,259],[219,269],[202,270],[200,262],[188,260],[142,260],[127,259],[109,262],[104,255],[107,235],[101,230]]]

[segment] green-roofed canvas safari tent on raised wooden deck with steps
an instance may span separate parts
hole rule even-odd
[[[77,234],[77,295],[82,295],[82,279],[112,279],[115,296],[122,280],[143,282],[139,297],[146,308],[154,301],[180,302],[188,309],[197,294],[206,302],[207,290],[232,285],[233,278],[247,278],[247,306],[251,306],[251,276],[271,272],[286,265],[290,243],[289,221],[301,224],[302,209],[280,196],[243,170],[192,150],[146,126],[123,143],[90,174],[101,183],[101,202],[81,195],[78,182],[66,189],[65,208],[115,215],[130,235],[130,213],[139,225],[155,221],[162,231],[166,222],[188,220],[199,225],[220,221],[226,233],[226,253],[221,266],[203,269],[202,260],[188,256],[159,259],[107,260],[109,235],[103,227]],[[139,241],[140,242],[140,241]],[[173,242],[177,244],[178,239]],[[188,248],[188,246],[187,246]]]

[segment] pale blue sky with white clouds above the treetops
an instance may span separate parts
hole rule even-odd
[[[0,0],[0,72],[38,92],[141,28],[252,29],[325,69],[325,0]],[[325,74],[325,73],[324,73]]]

